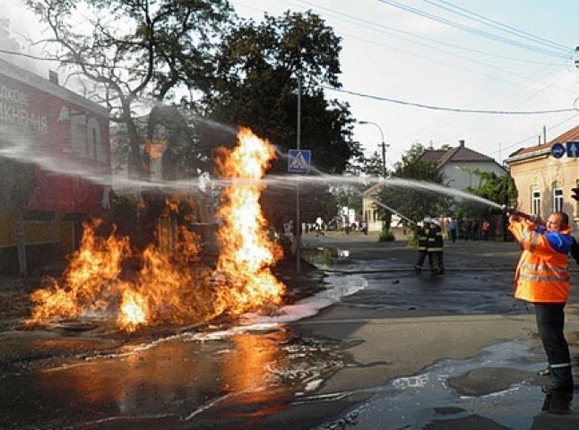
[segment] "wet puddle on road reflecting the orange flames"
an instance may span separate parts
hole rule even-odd
[[[295,391],[314,390],[340,368],[336,350],[279,326],[65,359],[4,378],[0,428],[174,428],[212,409],[258,418],[287,409]]]

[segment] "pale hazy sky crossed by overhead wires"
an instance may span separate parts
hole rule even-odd
[[[4,0],[11,29],[34,39],[24,0]],[[413,144],[465,145],[497,162],[578,125],[575,0],[232,0],[238,15],[311,10],[341,37],[341,91],[354,139],[392,168]],[[32,64],[46,67],[46,64]],[[415,107],[411,104],[425,105]],[[442,108],[442,109],[441,109]],[[445,110],[445,108],[453,110]],[[537,112],[475,114],[456,110]],[[275,142],[273,142],[275,143]],[[312,160],[315,164],[315,159]]]

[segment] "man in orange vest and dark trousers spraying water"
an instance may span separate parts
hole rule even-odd
[[[549,372],[544,374],[550,375],[550,383],[541,388],[545,392],[573,391],[571,357],[563,332],[564,307],[570,286],[567,254],[579,257],[569,217],[554,212],[543,227],[514,214],[508,228],[523,248],[514,276],[514,297],[534,305],[540,340],[549,359]]]

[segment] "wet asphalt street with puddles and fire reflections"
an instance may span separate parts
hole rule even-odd
[[[3,331],[0,428],[579,426],[579,400],[540,391],[534,315],[511,294],[513,243],[446,242],[434,278],[414,273],[402,242],[304,237],[308,257],[324,247],[349,256],[281,273],[297,297],[281,314],[131,336],[98,323]]]

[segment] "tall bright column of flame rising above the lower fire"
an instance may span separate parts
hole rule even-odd
[[[217,291],[220,312],[238,315],[267,302],[281,303],[285,286],[271,271],[281,258],[281,249],[269,240],[259,204],[264,188],[259,180],[274,158],[269,142],[241,128],[238,146],[218,164],[221,176],[246,179],[224,189],[225,204],[218,212],[224,222],[217,234],[220,257],[216,271],[227,276]]]

